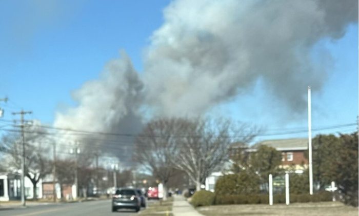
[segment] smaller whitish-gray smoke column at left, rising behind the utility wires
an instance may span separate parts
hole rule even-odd
[[[98,80],[85,83],[73,93],[73,99],[78,106],[69,108],[66,113],[56,113],[54,126],[73,130],[136,134],[142,129],[139,110],[143,101],[142,89],[143,83],[129,57],[123,52],[122,58],[105,66]],[[102,150],[123,156],[124,161],[131,157],[128,151],[131,150],[134,139],[126,135],[79,135],[73,131],[65,132],[61,138],[60,144],[79,141],[93,151]]]

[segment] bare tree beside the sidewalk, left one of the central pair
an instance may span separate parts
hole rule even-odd
[[[183,125],[181,119],[158,119],[150,121],[137,136],[134,159],[144,165],[164,185],[164,200],[167,198],[167,183],[174,174],[171,163],[176,148],[176,133]]]

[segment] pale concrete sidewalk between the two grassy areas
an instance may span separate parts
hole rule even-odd
[[[198,213],[182,195],[173,196],[172,213],[174,216],[203,216]]]

